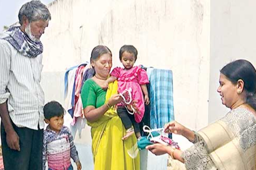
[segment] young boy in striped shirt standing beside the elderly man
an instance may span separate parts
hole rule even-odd
[[[76,162],[77,170],[81,170],[76,146],[68,127],[63,126],[64,108],[52,101],[44,105],[44,121],[49,124],[44,130],[43,170],[48,160],[49,170],[73,170],[70,157]]]

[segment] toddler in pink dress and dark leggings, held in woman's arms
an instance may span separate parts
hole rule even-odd
[[[106,89],[108,88],[109,82],[118,79],[118,93],[122,94],[124,91],[130,89],[132,100],[137,101],[137,111],[134,115],[128,113],[124,104],[117,105],[117,113],[126,129],[126,134],[122,138],[123,140],[131,136],[134,133],[134,130],[137,139],[140,139],[141,135],[138,123],[141,122],[145,112],[144,100],[146,105],[149,104],[148,90],[146,87],[146,84],[149,83],[147,73],[141,66],[134,66],[137,54],[138,51],[133,45],[123,45],[119,51],[119,59],[124,68],[114,68],[111,72],[111,77],[106,80],[102,87]],[[143,94],[145,96],[144,99]],[[130,108],[131,106],[128,105],[126,107]]]

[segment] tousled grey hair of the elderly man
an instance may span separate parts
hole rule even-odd
[[[51,14],[43,3],[39,0],[32,0],[28,3],[25,3],[19,11],[19,23],[22,25],[23,20],[22,17],[26,16],[29,20],[29,23],[37,20],[51,20]]]

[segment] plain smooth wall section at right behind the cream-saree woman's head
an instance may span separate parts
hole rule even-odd
[[[255,0],[211,0],[209,122],[229,111],[216,92],[219,70],[235,59],[256,66],[255,9]]]

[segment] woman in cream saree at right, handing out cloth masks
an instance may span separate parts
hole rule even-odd
[[[220,72],[217,91],[231,111],[198,133],[177,122],[167,124],[166,132],[194,143],[185,151],[162,144],[148,146],[148,150],[156,155],[168,153],[185,163],[186,170],[256,169],[256,70],[247,60],[239,59]]]

